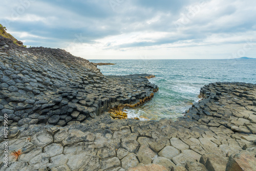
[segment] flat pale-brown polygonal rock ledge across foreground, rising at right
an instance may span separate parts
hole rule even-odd
[[[211,83],[201,96],[176,121],[103,114],[64,127],[11,127],[10,166],[0,170],[255,170],[256,85]]]

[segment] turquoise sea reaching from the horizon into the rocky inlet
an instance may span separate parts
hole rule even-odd
[[[216,81],[256,83],[256,60],[189,59],[189,60],[90,60],[116,65],[98,66],[104,75],[153,74],[150,79],[159,87],[154,98],[136,109],[129,117],[151,119],[177,118],[199,100],[200,88]],[[143,120],[143,119],[141,119]]]

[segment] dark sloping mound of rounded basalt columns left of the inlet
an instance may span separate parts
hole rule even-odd
[[[4,37],[0,45],[0,125],[4,114],[18,126],[86,122],[157,89],[147,74],[106,77],[65,50],[18,47]]]

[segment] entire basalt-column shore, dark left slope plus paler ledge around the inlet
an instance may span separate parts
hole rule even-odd
[[[1,134],[0,170],[256,168],[255,84],[205,85],[203,99],[176,121],[113,119],[110,109],[152,98],[151,77],[104,76],[66,51],[18,47],[0,36],[0,124],[4,114],[9,121],[9,167]]]

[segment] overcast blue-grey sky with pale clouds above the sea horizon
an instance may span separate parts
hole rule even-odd
[[[24,45],[87,59],[256,58],[255,0],[2,0]]]

